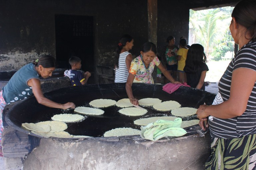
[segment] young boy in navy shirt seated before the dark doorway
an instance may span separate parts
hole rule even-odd
[[[86,71],[82,74],[78,71],[81,68],[81,59],[76,56],[69,58],[69,64],[71,65],[70,72],[70,81],[72,86],[82,86],[87,83],[88,78],[91,76],[91,73]]]

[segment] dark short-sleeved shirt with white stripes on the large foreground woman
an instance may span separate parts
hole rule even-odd
[[[248,68],[256,71],[256,41],[251,41],[244,45],[231,60],[225,73],[222,75],[218,87],[223,101],[228,100],[230,97],[232,73],[238,68]],[[239,138],[244,135],[255,134],[256,82],[250,94],[246,110],[241,116],[231,119],[219,119],[215,117],[210,119],[209,117],[209,125],[211,135],[218,138]]]

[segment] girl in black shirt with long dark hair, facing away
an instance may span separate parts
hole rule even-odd
[[[204,47],[200,44],[192,44],[188,49],[184,71],[187,75],[187,84],[191,87],[205,90],[204,79],[209,70],[206,65]]]

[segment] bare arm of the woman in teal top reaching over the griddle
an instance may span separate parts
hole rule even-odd
[[[46,97],[44,97],[39,79],[35,79],[35,78],[30,79],[28,81],[28,85],[32,87],[33,94],[35,95],[35,98],[39,104],[42,104],[47,107],[59,108],[59,109],[75,108],[74,103],[68,102],[65,104],[60,104],[60,103],[53,102],[47,99]]]

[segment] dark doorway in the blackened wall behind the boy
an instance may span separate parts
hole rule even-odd
[[[92,16],[55,15],[57,68],[71,68],[71,56],[81,58],[83,71],[92,73],[88,84],[94,84],[94,33]]]

